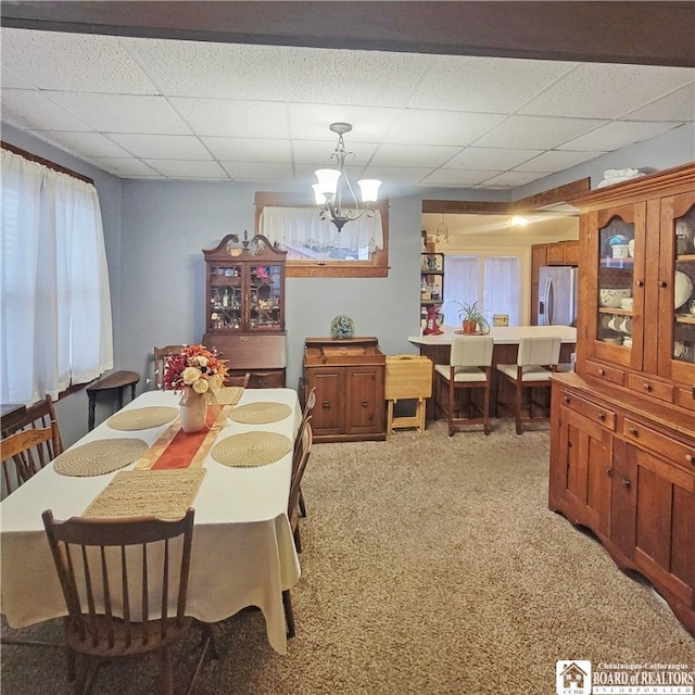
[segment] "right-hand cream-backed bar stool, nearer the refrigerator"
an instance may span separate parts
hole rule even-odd
[[[549,421],[551,374],[557,370],[560,358],[560,339],[557,336],[527,337],[519,341],[516,364],[497,365],[501,377],[514,387],[514,418],[517,434],[525,424]],[[542,391],[545,401],[534,399],[534,391]],[[525,403],[528,395],[528,403]],[[543,416],[533,415],[533,407],[544,410]],[[528,408],[528,417],[523,416]]]

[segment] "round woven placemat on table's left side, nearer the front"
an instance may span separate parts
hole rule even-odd
[[[53,469],[61,476],[103,476],[138,460],[148,451],[141,439],[100,439],[56,456]]]

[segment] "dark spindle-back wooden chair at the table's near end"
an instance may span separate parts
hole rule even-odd
[[[173,695],[172,649],[193,624],[186,595],[193,539],[193,509],[178,520],[53,518],[42,515],[67,607],[65,645],[73,692],[85,694],[104,661],[159,653],[160,692]],[[190,693],[210,652],[203,630]]]

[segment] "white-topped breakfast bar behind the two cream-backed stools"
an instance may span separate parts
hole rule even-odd
[[[439,336],[412,336],[408,341],[417,345],[420,355],[429,357],[434,365],[448,364],[448,355],[452,346],[452,339],[459,330],[452,326],[442,326],[442,333]],[[505,382],[497,384],[496,365],[514,364],[517,359],[519,341],[521,338],[532,336],[559,336],[560,338],[560,364],[572,362],[572,354],[577,344],[577,329],[572,326],[494,326],[490,329],[490,336],[495,341],[492,353],[492,401],[490,414],[497,416],[500,403],[511,403],[514,394],[509,386]],[[500,391],[497,388],[500,387]],[[427,403],[427,418],[434,416],[433,400]]]

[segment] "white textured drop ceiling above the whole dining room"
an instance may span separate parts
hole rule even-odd
[[[313,170],[330,165],[336,138],[329,124],[346,121],[353,124],[345,136],[354,152],[351,176],[381,178],[387,195],[400,185],[511,189],[693,127],[692,54],[657,56],[666,65],[540,60],[538,47],[504,47],[514,39],[508,30],[500,34],[503,48],[466,49],[462,40],[458,50],[475,54],[441,54],[454,49],[433,40],[429,52],[402,52],[418,45],[389,38],[392,25],[383,43],[396,50],[355,50],[350,23],[348,48],[334,37],[320,45],[308,25],[305,37],[290,36],[299,34],[293,22],[287,36],[277,25],[275,34],[263,25],[265,34],[237,33],[232,42],[222,24],[216,33],[207,26],[215,12],[233,18],[235,5],[265,5],[273,16],[283,10],[289,18],[292,7],[325,11],[341,4],[368,5],[365,25],[383,21],[390,5],[402,12],[406,5],[445,5],[459,16],[466,5],[509,3],[3,2],[2,119],[119,177],[251,181],[266,189],[308,187]],[[680,11],[693,3],[510,4],[528,5],[527,14],[536,5],[566,5],[569,25],[572,5],[661,4],[666,17],[668,7]],[[40,12],[39,5],[52,14],[17,20]],[[129,26],[115,26],[112,16],[80,25],[72,14],[94,5],[129,5]],[[188,25],[168,26],[176,17],[164,22],[157,5],[188,10]],[[197,15],[190,14],[193,5]],[[201,11],[205,7],[215,12]],[[61,24],[61,17],[70,22]],[[166,30],[153,28],[157,18]],[[623,14],[623,25],[629,18]],[[203,24],[205,30],[195,33]],[[695,33],[691,38],[695,46]],[[577,40],[563,52],[556,39],[549,54],[582,59]],[[305,45],[289,45],[300,42]],[[620,52],[621,42],[615,48]]]

